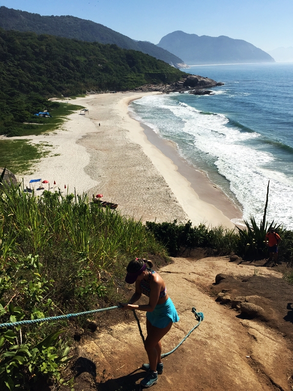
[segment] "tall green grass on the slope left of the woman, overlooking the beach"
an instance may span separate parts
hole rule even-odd
[[[60,308],[91,307],[99,299],[95,286],[103,285],[104,300],[111,300],[130,259],[167,256],[141,221],[102,208],[85,194],[36,196],[18,186],[0,195],[0,241],[1,262],[39,255]]]

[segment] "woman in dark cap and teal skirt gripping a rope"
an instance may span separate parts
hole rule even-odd
[[[135,293],[128,303],[121,303],[123,309],[146,311],[145,349],[149,364],[142,366],[148,373],[140,383],[146,388],[156,384],[158,373],[163,372],[160,341],[172,324],[179,321],[174,304],[167,294],[166,283],[152,270],[152,267],[153,263],[144,259],[136,258],[128,263],[125,281],[129,284],[135,282]],[[149,297],[148,304],[133,304],[140,299],[142,294]]]

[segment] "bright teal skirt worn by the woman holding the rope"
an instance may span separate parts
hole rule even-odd
[[[163,304],[157,304],[152,312],[146,312],[146,319],[152,326],[165,328],[170,322],[179,321],[176,308],[170,298]]]

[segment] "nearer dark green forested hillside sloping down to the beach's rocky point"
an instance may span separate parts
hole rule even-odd
[[[114,44],[89,43],[0,28],[0,134],[41,121],[34,113],[53,96],[172,83],[184,75],[167,63]]]

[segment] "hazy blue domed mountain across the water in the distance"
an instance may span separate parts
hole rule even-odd
[[[252,43],[225,35],[198,36],[178,30],[165,35],[157,46],[180,56],[188,65],[274,62],[268,53]]]

